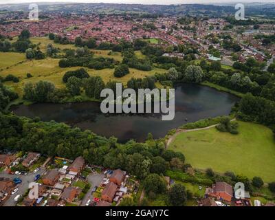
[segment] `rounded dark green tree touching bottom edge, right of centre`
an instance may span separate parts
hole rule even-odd
[[[186,189],[181,184],[173,185],[168,191],[168,200],[172,206],[184,206]]]

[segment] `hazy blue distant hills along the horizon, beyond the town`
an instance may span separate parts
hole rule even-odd
[[[0,10],[28,11],[29,4],[0,5]],[[275,4],[250,3],[245,4],[245,14],[260,14],[275,17]],[[39,9],[43,12],[63,13],[102,13],[102,14],[161,14],[164,16],[208,16],[221,17],[236,12],[234,5],[140,5],[140,4],[115,4],[115,3],[39,3]]]

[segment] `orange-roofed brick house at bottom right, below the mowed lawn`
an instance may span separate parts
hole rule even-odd
[[[217,181],[212,188],[206,188],[206,194],[230,202],[233,197],[233,188],[224,181]]]

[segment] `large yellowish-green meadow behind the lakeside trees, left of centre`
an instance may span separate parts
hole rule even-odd
[[[106,52],[106,51],[102,51]],[[10,56],[6,56],[10,57]],[[6,58],[5,57],[5,58]],[[3,71],[0,72],[0,76],[5,77],[8,74],[13,74],[14,76],[19,77],[19,83],[12,83],[12,82],[6,82],[5,85],[8,85],[9,87],[12,87],[14,91],[16,91],[19,96],[23,95],[23,87],[25,83],[32,82],[36,83],[39,80],[47,80],[52,83],[57,88],[65,87],[65,84],[62,81],[63,75],[67,71],[79,69],[81,67],[67,67],[67,68],[61,68],[58,66],[59,59],[54,58],[45,58],[44,60],[33,60],[33,61],[25,61],[24,63],[21,63],[19,65],[14,65],[8,69],[3,69]],[[87,72],[90,76],[101,76],[102,80],[104,80],[104,83],[107,83],[109,80],[117,80],[118,82],[123,83],[126,85],[127,81],[132,78],[143,78],[145,76],[151,76],[158,73],[164,73],[166,72],[165,69],[157,69],[154,68],[151,71],[141,71],[137,69],[130,69],[130,74],[127,74],[126,76],[122,78],[115,78],[113,76],[114,69],[101,69],[101,70],[95,70],[95,69],[87,69]],[[32,78],[27,78],[27,74],[32,74]]]

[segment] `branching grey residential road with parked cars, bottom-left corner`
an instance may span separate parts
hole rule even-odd
[[[5,201],[3,206],[15,206],[17,202],[14,201],[14,198],[17,195],[24,195],[29,188],[29,183],[34,181],[34,176],[37,174],[43,175],[43,173],[45,173],[44,168],[41,168],[37,173],[28,173],[28,175],[10,175],[5,172],[0,173],[0,177],[10,178],[10,179],[19,177],[22,180],[22,183],[17,185],[18,191],[14,195],[10,195],[10,198],[7,201]]]

